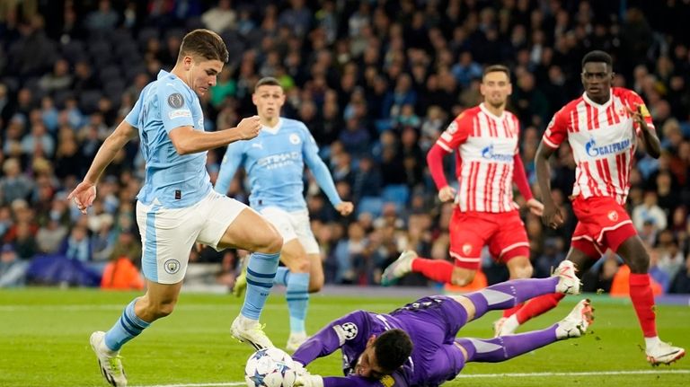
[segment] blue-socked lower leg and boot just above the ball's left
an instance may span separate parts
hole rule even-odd
[[[254,252],[247,265],[247,293],[242,311],[233,321],[231,332],[235,339],[256,349],[273,347],[263,331],[259,318],[273,287],[280,253]]]

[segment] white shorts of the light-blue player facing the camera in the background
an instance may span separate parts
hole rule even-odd
[[[308,210],[288,212],[279,207],[265,207],[261,209],[261,215],[276,227],[285,243],[298,239],[307,254],[319,253],[319,243],[312,233]]]

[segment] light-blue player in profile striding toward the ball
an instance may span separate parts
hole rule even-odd
[[[157,80],[146,85],[134,108],[99,149],[84,181],[69,195],[85,214],[102,172],[129,139],[139,136],[146,160],[146,181],[137,195],[146,295],[129,303],[111,330],[93,332],[90,340],[102,374],[113,386],[127,385],[120,347],[173,312],[195,242],[218,251],[228,247],[254,251],[249,270],[255,277],[231,330],[236,339],[253,347],[272,347],[259,318],[273,286],[283,239],[250,207],[215,192],[206,171],[209,149],[251,139],[261,130],[255,116],[243,119],[237,128],[204,132],[199,96],[216,84],[227,59],[226,44],[217,33],[188,33],[173,71],[161,70]]]

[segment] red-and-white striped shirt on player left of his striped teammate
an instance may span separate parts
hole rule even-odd
[[[456,148],[459,183],[456,204],[461,211],[501,213],[517,208],[513,201],[514,157],[518,152],[517,117],[497,117],[483,103],[464,110],[436,144],[449,153]]]

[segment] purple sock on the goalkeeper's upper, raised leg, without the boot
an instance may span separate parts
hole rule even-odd
[[[489,311],[509,309],[537,295],[556,291],[558,277],[514,279],[465,295],[474,303],[474,319]]]

